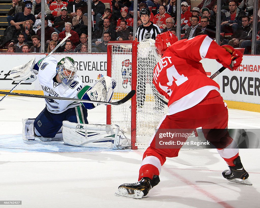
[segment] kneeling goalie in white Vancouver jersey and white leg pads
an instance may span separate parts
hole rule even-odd
[[[96,148],[124,149],[130,147],[125,136],[119,135],[117,125],[88,124],[87,109],[99,103],[59,100],[59,97],[110,102],[115,80],[103,76],[92,87],[84,86],[77,76],[75,61],[64,57],[59,62],[47,56],[35,64],[35,58],[26,64],[14,67],[10,73],[12,80],[33,82],[37,79],[44,95],[57,99],[45,99],[46,107],[35,119],[23,119],[23,140],[53,141]]]

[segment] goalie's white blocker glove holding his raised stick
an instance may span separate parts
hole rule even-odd
[[[34,70],[35,57],[26,64],[14,67],[10,73],[10,77],[14,81],[24,81],[25,83],[31,83],[37,79],[37,70]]]

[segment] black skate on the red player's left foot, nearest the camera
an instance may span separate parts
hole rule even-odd
[[[118,187],[118,191],[116,191],[115,194],[118,196],[141,199],[143,196],[146,196],[148,192],[152,189],[152,187],[156,186],[159,182],[159,176],[154,176],[153,180],[145,177],[134,184],[120,185]]]

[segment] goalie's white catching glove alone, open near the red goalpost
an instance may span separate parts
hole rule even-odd
[[[110,102],[114,94],[116,81],[109,76],[103,76],[96,81],[92,88],[86,92],[90,100]],[[97,106],[96,103],[94,103]]]

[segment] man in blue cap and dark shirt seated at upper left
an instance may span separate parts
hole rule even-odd
[[[17,30],[21,29],[22,24],[26,20],[29,20],[30,23],[33,25],[35,23],[36,18],[33,14],[31,14],[31,10],[32,10],[32,4],[30,3],[26,4],[24,8],[24,12],[17,13],[10,21],[10,24],[14,25]]]

